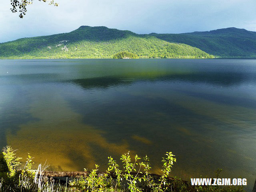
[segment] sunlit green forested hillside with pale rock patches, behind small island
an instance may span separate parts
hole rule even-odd
[[[0,58],[113,58],[123,51],[139,58],[213,57],[198,48],[167,42],[155,36],[90,26],[81,26],[69,33],[0,44]]]

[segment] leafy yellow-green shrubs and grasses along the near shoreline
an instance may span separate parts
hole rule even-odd
[[[6,146],[0,154],[0,192],[244,192],[242,186],[192,186],[180,178],[169,178],[176,162],[172,152],[166,152],[162,175],[156,175],[150,174],[148,156],[133,158],[129,152],[122,154],[122,166],[108,157],[109,167],[105,172],[98,172],[97,164],[92,171],[47,172],[45,164],[32,169],[30,154],[21,166],[21,158],[15,156],[15,151]],[[216,178],[220,172],[216,171]],[[63,176],[64,180],[60,178]]]

